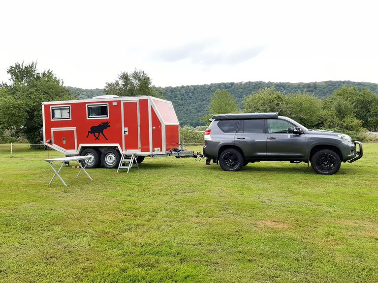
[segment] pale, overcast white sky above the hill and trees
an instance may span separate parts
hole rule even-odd
[[[64,85],[103,88],[144,70],[156,86],[378,83],[377,1],[7,0],[0,82],[37,61]]]

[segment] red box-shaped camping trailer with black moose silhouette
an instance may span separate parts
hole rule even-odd
[[[193,156],[180,149],[179,121],[170,101],[103,95],[42,103],[43,142],[66,156],[91,156],[87,168],[117,168],[121,154]]]

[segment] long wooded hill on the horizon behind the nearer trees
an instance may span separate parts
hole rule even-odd
[[[324,98],[339,89],[343,85],[367,87],[378,93],[378,84],[362,83],[351,81],[326,81],[315,83],[272,83],[272,82],[241,82],[241,83],[219,83],[210,85],[182,85],[161,87],[163,96],[172,101],[181,125],[199,126],[202,125],[200,119],[207,113],[207,106],[210,103],[211,95],[217,89],[227,89],[235,95],[239,106],[245,96],[264,87],[276,87],[284,93],[309,92],[315,96]],[[78,87],[67,87],[73,95],[79,99],[92,98],[103,95],[103,89],[83,89]]]

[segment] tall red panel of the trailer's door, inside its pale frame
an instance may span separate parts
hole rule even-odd
[[[125,150],[139,150],[138,142],[138,103],[124,102]]]

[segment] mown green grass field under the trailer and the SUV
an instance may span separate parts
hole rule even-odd
[[[48,185],[47,151],[0,145],[0,282],[378,282],[378,144],[364,154],[332,176],[173,157],[94,181],[66,167],[65,188]]]

